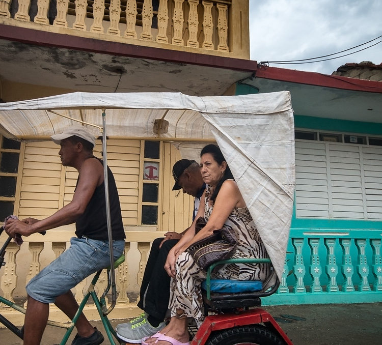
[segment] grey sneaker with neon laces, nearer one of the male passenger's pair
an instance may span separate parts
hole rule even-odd
[[[151,337],[165,326],[166,323],[161,322],[158,327],[153,327],[145,317],[142,319],[142,321],[132,324],[131,327],[120,327],[117,329],[117,335],[119,338],[126,342],[139,344],[142,342],[142,338]]]

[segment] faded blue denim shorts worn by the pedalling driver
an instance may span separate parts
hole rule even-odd
[[[124,240],[113,241],[114,260],[122,255],[124,247]],[[108,241],[72,237],[70,247],[33,277],[25,289],[39,302],[54,303],[58,296],[106,267],[110,267]]]

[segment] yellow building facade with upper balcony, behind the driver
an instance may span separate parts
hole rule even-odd
[[[4,102],[73,91],[233,94],[250,76],[248,0],[64,0],[0,2],[0,98]],[[63,167],[51,141],[18,142],[0,124],[0,205],[23,219],[47,217],[70,202],[77,172]],[[43,138],[40,138],[43,139]],[[101,141],[95,155],[102,157]],[[192,221],[193,198],[172,191],[180,153],[170,142],[107,140],[126,232],[127,260],[117,271],[118,300],[111,318],[138,313],[139,286],[150,243]],[[12,212],[11,212],[12,211]],[[2,219],[0,219],[0,222]],[[62,253],[74,225],[11,243],[0,272],[3,296],[19,305],[24,286]],[[5,234],[0,242],[6,239]],[[74,289],[79,301],[89,283]],[[99,282],[99,290],[105,285]],[[0,310],[16,324],[23,315]],[[95,308],[87,306],[90,318]],[[51,318],[65,320],[55,307]]]

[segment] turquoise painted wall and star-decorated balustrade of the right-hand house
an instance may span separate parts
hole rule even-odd
[[[250,85],[237,84],[236,85],[236,95],[245,94],[256,94],[258,90],[252,88]],[[348,132],[348,133],[360,133],[366,135],[382,135],[382,124],[379,123],[368,123],[362,121],[347,121],[347,120],[334,120],[326,118],[316,118],[303,115],[294,116],[294,125],[296,128],[301,129],[314,129],[319,131],[334,131],[334,132]],[[382,232],[382,220],[371,221],[371,220],[346,220],[346,219],[315,219],[315,218],[296,218],[295,210],[293,211],[290,238],[287,247],[287,265],[290,275],[287,277],[287,284],[293,286],[295,283],[295,277],[292,273],[294,265],[294,247],[292,245],[292,238],[304,238],[303,246],[303,256],[304,256],[304,266],[306,272],[309,272],[309,265],[311,264],[311,248],[309,247],[308,237],[320,237],[319,243],[319,258],[321,264],[325,265],[327,257],[327,248],[325,247],[323,238],[317,235],[307,235],[307,233],[349,233],[351,237],[351,247],[350,255],[351,261],[354,267],[357,266],[357,246],[354,239],[375,239],[380,238]],[[324,236],[323,236],[324,237]],[[340,236],[339,236],[340,237]],[[343,260],[343,251],[340,246],[339,237],[336,238],[336,250],[335,256],[338,265],[341,265]],[[368,263],[372,261],[372,249],[370,243],[368,242],[366,248],[366,256]],[[370,283],[373,282],[374,276],[372,272],[368,275],[368,280]],[[339,272],[337,275],[337,281],[342,284],[344,280],[343,275]],[[352,276],[352,281],[354,284],[358,284],[360,280],[357,272],[354,272]],[[310,274],[306,274],[304,277],[304,285],[309,286],[312,283],[312,277]],[[328,283],[328,276],[322,274],[320,277],[320,284],[325,286]],[[263,300],[264,305],[269,304],[303,304],[303,303],[359,303],[359,302],[375,302],[381,301],[381,293],[378,292],[352,292],[344,293],[338,292],[334,294],[328,294],[326,292],[312,294],[275,294]]]

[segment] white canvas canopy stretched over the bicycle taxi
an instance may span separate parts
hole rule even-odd
[[[76,92],[0,104],[0,131],[16,140],[47,140],[75,121],[101,135],[102,120],[107,137],[168,140],[183,157],[197,161],[202,143],[215,140],[281,279],[295,183],[289,92],[215,97]]]

